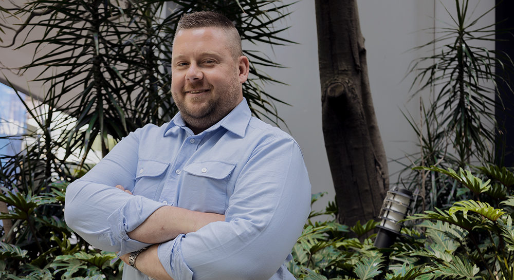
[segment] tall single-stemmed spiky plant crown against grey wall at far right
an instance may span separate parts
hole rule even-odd
[[[489,86],[487,82],[505,81],[505,77],[495,74],[493,65],[508,71],[513,64],[504,53],[475,46],[480,41],[494,41],[495,34],[505,32],[495,30],[494,24],[484,26],[481,22],[494,7],[476,15],[468,0],[455,0],[454,4],[456,16],[447,9],[451,24],[434,28],[435,39],[415,49],[437,44],[443,47],[414,61],[409,72],[415,74],[411,89],[419,84],[415,93],[433,86],[439,88],[429,110],[440,122],[429,129],[452,142],[458,165],[464,166],[473,154],[486,158],[488,143],[494,143],[496,103],[490,93],[497,93],[497,83]]]

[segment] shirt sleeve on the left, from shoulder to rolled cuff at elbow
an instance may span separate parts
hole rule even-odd
[[[82,178],[66,189],[64,218],[67,225],[89,244],[119,255],[148,246],[127,236],[163,204],[127,194],[133,190],[138,159],[137,130]]]

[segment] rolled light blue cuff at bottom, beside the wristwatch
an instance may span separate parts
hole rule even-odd
[[[182,256],[181,240],[184,237],[186,235],[180,234],[173,240],[161,243],[157,248],[157,255],[162,266],[173,279],[192,280],[193,271]]]

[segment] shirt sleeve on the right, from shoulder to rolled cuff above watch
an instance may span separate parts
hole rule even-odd
[[[161,264],[175,280],[269,279],[302,232],[310,194],[298,144],[272,138],[243,167],[226,220],[161,244]]]

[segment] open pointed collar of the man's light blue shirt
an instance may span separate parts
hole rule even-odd
[[[246,102],[246,98],[243,98],[237,106],[235,106],[230,113],[221,119],[216,124],[204,130],[204,132],[210,132],[216,130],[219,126],[223,126],[231,133],[243,138],[245,137],[246,127],[252,117],[250,107]],[[176,131],[179,128],[186,129],[186,122],[182,119],[180,112],[178,112],[173,119],[166,125],[163,136],[167,136],[169,133]],[[202,133],[204,133],[202,132]]]

